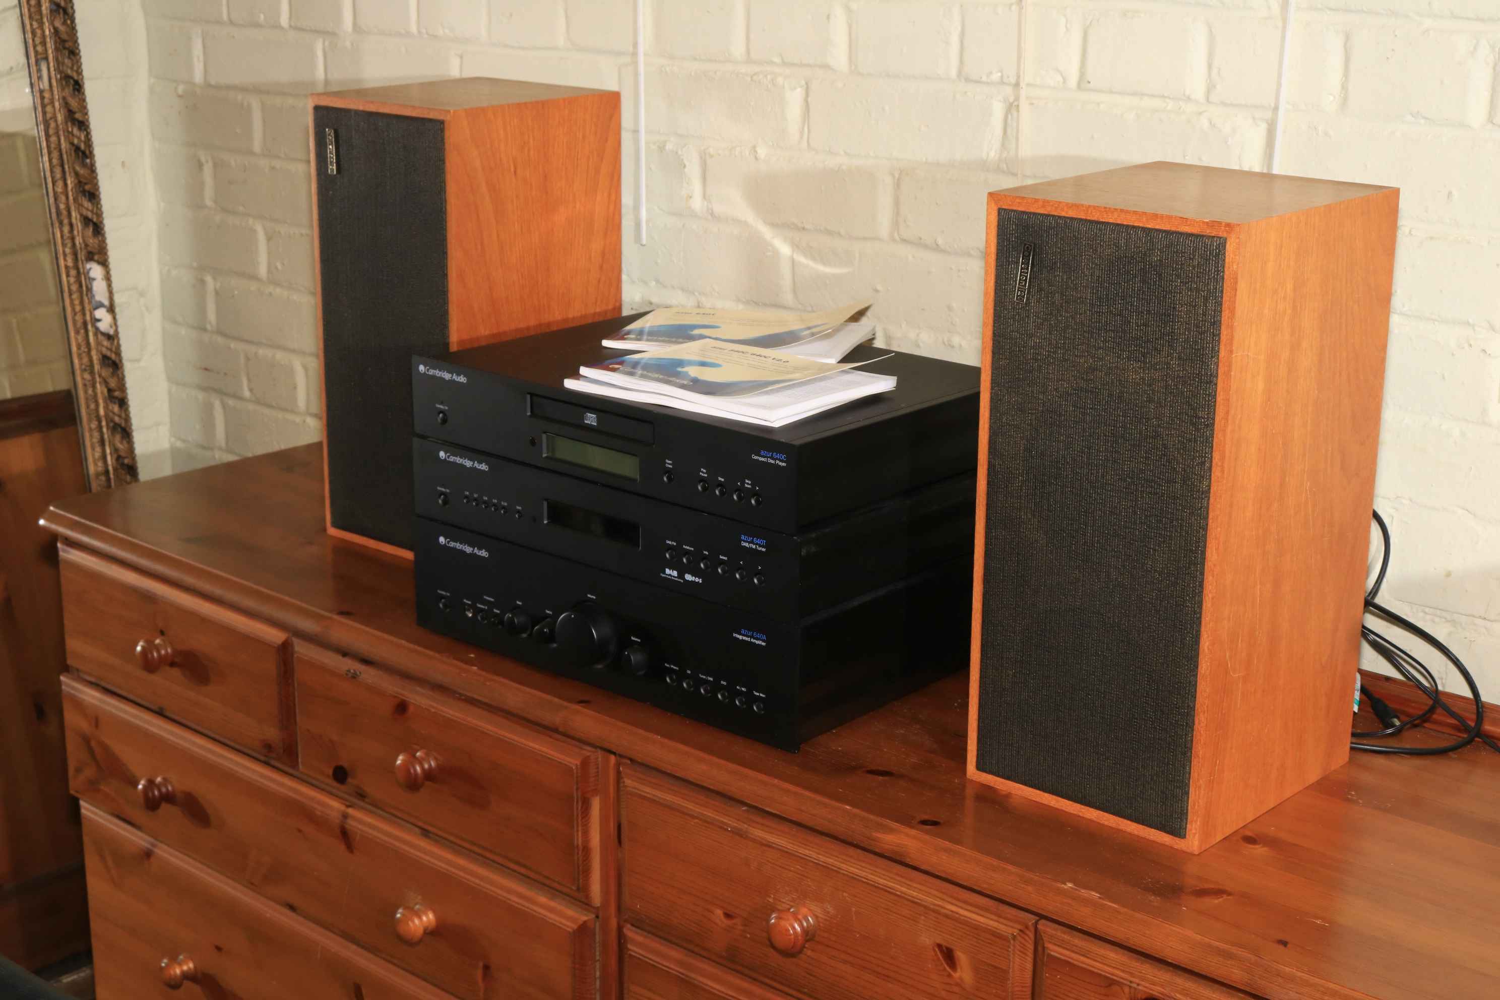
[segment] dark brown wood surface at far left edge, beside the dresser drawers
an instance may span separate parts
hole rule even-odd
[[[57,543],[38,523],[84,489],[72,396],[0,405],[0,955],[28,969],[88,940],[57,690]]]

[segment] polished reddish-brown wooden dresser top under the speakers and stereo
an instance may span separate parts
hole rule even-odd
[[[1500,756],[1478,745],[1354,754],[1191,856],[969,783],[962,676],[789,754],[418,628],[411,564],[330,538],[322,517],[306,445],[69,499],[44,523],[298,639],[1254,994],[1500,996]]]

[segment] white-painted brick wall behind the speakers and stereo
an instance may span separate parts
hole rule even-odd
[[[132,175],[159,225],[122,232],[154,261],[135,267],[160,288],[144,321],[165,334],[180,468],[320,432],[309,90],[456,73],[620,87],[636,201],[633,0],[124,6],[150,75],[150,171]],[[650,223],[639,246],[627,214],[626,297],[868,295],[886,343],[974,361],[984,192],[1150,159],[1264,169],[1280,6],[1030,0],[1020,159],[1014,0],[646,0]],[[102,9],[81,4],[86,27]],[[1298,10],[1282,168],[1404,189],[1386,594],[1500,700],[1500,4]]]

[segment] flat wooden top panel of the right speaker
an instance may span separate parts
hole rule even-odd
[[[1238,225],[1392,190],[1258,171],[1138,163],[990,193],[990,205],[1224,235]]]

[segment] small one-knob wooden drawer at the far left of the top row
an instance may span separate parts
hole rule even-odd
[[[82,549],[58,550],[69,666],[226,742],[296,760],[286,633]]]

